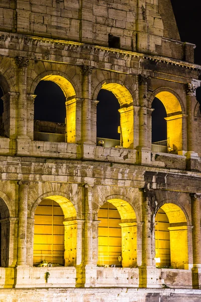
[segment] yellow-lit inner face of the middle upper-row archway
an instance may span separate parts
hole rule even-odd
[[[128,91],[128,89],[126,89],[125,86],[122,86],[117,83],[104,83],[102,85],[102,89],[112,92],[120,104],[120,127],[119,130],[116,130],[117,133],[120,133],[120,144],[125,148],[133,148],[133,98],[130,92]],[[108,103],[109,102],[110,100],[108,100]],[[109,107],[110,106],[111,105],[109,105]],[[118,115],[117,108],[115,108],[115,110],[115,114]]]

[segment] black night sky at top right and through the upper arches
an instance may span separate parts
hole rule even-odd
[[[190,42],[196,44],[195,63],[201,65],[201,38],[199,35],[201,1],[192,0],[191,5],[184,5],[183,0],[171,0],[173,11],[175,14],[178,30],[182,42]],[[49,84],[51,83],[51,89]],[[35,94],[35,119],[49,120],[54,122],[65,122],[65,97],[61,89],[52,82],[42,81],[36,88]],[[0,97],[3,95],[0,88]],[[40,97],[39,97],[40,95]],[[198,99],[201,99],[201,91],[197,91]],[[98,98],[100,102],[97,105],[97,136],[119,139],[117,126],[120,124],[120,117],[114,112],[119,109],[119,103],[115,96],[109,91],[101,90]],[[111,106],[106,110],[106,105],[110,102]],[[52,110],[47,110],[47,108]],[[152,113],[155,130],[152,131],[152,141],[162,140],[166,138],[166,116],[165,109],[157,99],[153,103],[155,108]],[[2,112],[2,104],[0,102],[0,114]],[[111,122],[114,122],[111,124]]]

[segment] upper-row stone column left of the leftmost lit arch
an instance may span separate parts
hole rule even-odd
[[[18,66],[18,136],[27,135],[27,67],[29,59],[16,57]]]

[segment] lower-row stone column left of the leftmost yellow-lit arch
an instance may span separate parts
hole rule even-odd
[[[19,204],[18,204],[18,258],[17,265],[27,264],[27,205],[29,182],[19,181]]]

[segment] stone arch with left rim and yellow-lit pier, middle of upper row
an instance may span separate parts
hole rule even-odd
[[[100,89],[111,91],[120,103],[120,126],[122,145],[125,148],[133,148],[134,143],[134,107],[133,97],[125,83],[110,79],[99,83],[94,89],[93,99],[97,99]]]

